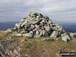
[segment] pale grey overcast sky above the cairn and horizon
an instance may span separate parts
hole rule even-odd
[[[54,22],[76,22],[76,0],[0,0],[0,22],[20,21],[32,11]]]

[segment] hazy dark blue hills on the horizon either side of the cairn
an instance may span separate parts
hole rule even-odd
[[[0,23],[0,30],[6,30],[8,28],[13,28],[15,24],[18,22],[4,22]],[[59,23],[62,25],[68,32],[76,32],[76,24],[75,23]]]

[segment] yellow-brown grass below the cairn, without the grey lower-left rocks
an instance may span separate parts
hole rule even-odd
[[[43,38],[43,37],[42,37]],[[60,51],[76,51],[76,39],[65,43],[61,40],[45,41],[41,39],[29,39],[25,37],[6,36],[3,31],[0,31],[0,41],[2,40],[16,40],[8,48],[16,48],[18,45],[21,47],[20,54],[30,54],[31,57],[59,57]]]

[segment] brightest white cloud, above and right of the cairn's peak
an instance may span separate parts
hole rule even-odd
[[[72,1],[68,2],[58,2],[54,4],[47,4],[43,6],[40,10],[44,12],[59,12],[64,10],[73,9],[76,7],[76,4]]]

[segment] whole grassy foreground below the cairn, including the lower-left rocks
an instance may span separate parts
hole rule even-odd
[[[0,31],[0,57],[59,57],[60,52],[76,51],[76,38],[68,43],[51,37],[30,39]]]

